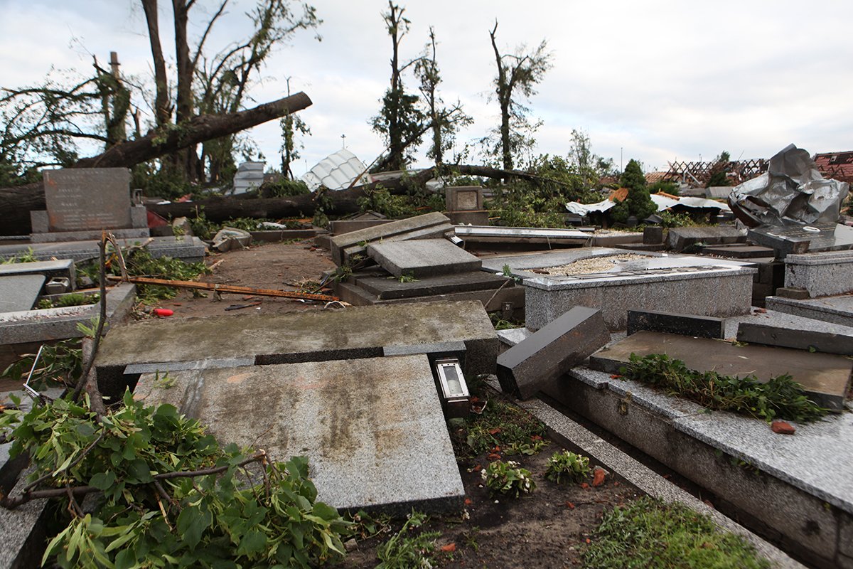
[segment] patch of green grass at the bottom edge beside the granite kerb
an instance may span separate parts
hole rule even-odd
[[[743,537],[681,504],[641,497],[604,513],[583,552],[587,569],[766,569]]]

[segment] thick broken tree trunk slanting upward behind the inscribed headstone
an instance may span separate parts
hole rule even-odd
[[[130,168],[164,154],[171,154],[194,144],[245,131],[287,113],[310,107],[310,97],[297,93],[278,101],[264,103],[245,111],[228,114],[203,114],[166,133],[149,131],[136,140],[121,142],[103,154],[78,160],[74,168]],[[44,184],[31,183],[14,188],[0,188],[0,235],[30,233],[30,212],[44,209]]]

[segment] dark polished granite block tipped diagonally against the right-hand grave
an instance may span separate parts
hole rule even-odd
[[[504,392],[526,399],[610,341],[601,311],[575,306],[497,357]]]

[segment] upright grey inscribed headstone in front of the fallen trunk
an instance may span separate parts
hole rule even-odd
[[[32,241],[86,241],[107,229],[116,237],[147,237],[143,206],[131,202],[126,168],[44,171],[47,211],[32,212]]]

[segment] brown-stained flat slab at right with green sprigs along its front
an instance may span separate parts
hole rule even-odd
[[[660,332],[637,332],[589,357],[593,369],[618,374],[631,354],[639,357],[666,354],[684,362],[688,369],[716,371],[759,381],[790,374],[815,403],[828,409],[844,409],[853,362],[834,354],[808,353],[763,345],[732,345],[705,338],[690,338]]]

